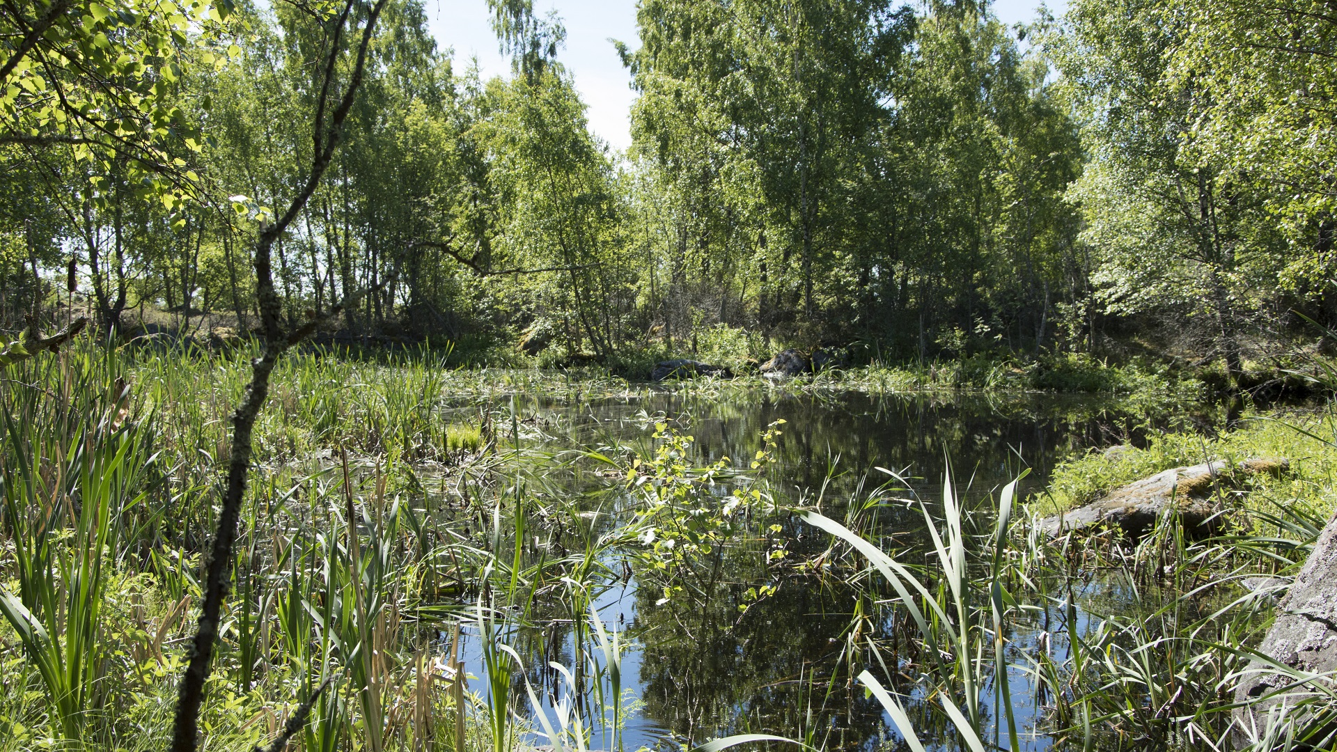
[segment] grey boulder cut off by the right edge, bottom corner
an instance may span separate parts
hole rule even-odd
[[[1258,652],[1298,672],[1328,673],[1322,680],[1326,692],[1337,689],[1330,673],[1337,672],[1337,515],[1318,534],[1314,550],[1277,605],[1275,614]],[[1235,686],[1235,702],[1257,700],[1293,681],[1289,674],[1254,658]],[[1314,692],[1304,685],[1296,686],[1285,697],[1277,696],[1235,708],[1234,720],[1239,729],[1257,729],[1257,733],[1266,727],[1265,716],[1270,708],[1282,700],[1293,707],[1297,700]],[[1320,705],[1322,704],[1321,701]],[[1237,748],[1245,736],[1241,731],[1235,732]]]

